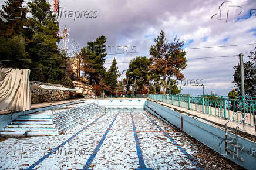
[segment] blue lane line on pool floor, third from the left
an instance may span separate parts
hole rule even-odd
[[[130,112],[131,118],[132,118],[132,123],[133,123],[133,134],[134,134],[134,138],[135,138],[135,142],[136,142],[136,149],[137,149],[137,155],[138,155],[138,159],[139,159],[139,164],[140,164],[140,168],[139,169],[146,169],[146,165],[143,159],[143,154],[142,154],[142,149],[140,148],[140,141],[136,132],[136,127],[134,124],[134,120],[133,120],[133,114],[132,112]]]

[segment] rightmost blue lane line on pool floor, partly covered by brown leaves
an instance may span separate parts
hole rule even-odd
[[[143,113],[143,114],[146,115],[145,113]],[[188,152],[186,152],[185,149],[183,149],[180,145],[178,145],[177,142],[174,141],[173,138],[171,138],[169,134],[167,134],[166,132],[164,132],[163,129],[162,129],[159,125],[156,124],[156,122],[154,122],[153,120],[151,120],[151,118],[150,118],[148,115],[146,115],[146,117],[151,121],[151,123],[153,123],[154,125],[156,125],[156,127],[159,128],[159,130],[162,131],[163,134],[164,134],[167,138],[169,138],[169,140],[170,140],[171,142],[173,142],[173,144],[174,144],[178,149],[180,149],[180,151],[183,152],[183,154],[186,155],[186,157],[187,157],[188,159],[190,159],[190,161],[191,161],[194,165],[197,166],[196,169],[200,169],[200,168],[198,167],[198,165],[197,165],[197,162],[194,161],[193,157],[192,157],[190,154],[188,154]]]

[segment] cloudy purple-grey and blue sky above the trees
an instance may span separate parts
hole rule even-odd
[[[49,2],[52,4],[52,1]],[[62,16],[59,18],[59,23],[61,29],[65,25],[70,28],[68,45],[70,49],[72,47],[78,49],[77,46],[83,47],[87,42],[105,35],[107,45],[129,46],[129,52],[133,52],[130,49],[131,46],[136,46],[136,52],[144,52],[107,55],[106,68],[109,68],[113,57],[116,57],[119,70],[122,72],[129,66],[129,60],[137,55],[149,57],[150,46],[160,30],[166,33],[170,41],[176,35],[184,40],[184,48],[255,43],[256,1],[230,0],[221,6],[223,2],[216,0],[60,0],[62,12],[96,11],[97,17],[86,18],[83,13],[82,17],[76,19]],[[219,6],[221,6],[221,15]],[[250,11],[252,11],[251,18]],[[227,95],[233,87],[231,83],[233,67],[239,62],[238,56],[198,58],[244,53],[246,61],[248,52],[255,46],[254,44],[212,49],[187,49],[187,68],[182,72],[186,79],[203,79],[206,93],[214,91],[220,95]],[[118,52],[121,53],[122,50]],[[183,93],[201,94],[202,87],[183,87]]]

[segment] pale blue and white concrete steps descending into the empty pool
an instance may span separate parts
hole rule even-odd
[[[52,118],[52,114],[28,114],[28,115],[19,115],[16,120],[12,121],[12,124],[9,124],[0,135],[59,135],[59,132],[67,130],[80,121],[85,120],[89,117],[92,117],[90,109],[95,108],[95,114],[98,113],[99,106],[97,104],[89,104],[86,106],[80,106],[78,108],[60,111],[56,113],[56,117]],[[53,120],[56,123],[56,120],[59,121],[58,127],[56,124],[53,124]]]

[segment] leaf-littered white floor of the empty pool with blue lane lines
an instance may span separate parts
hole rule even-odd
[[[0,142],[0,169],[241,169],[147,111],[98,113],[58,136]]]

